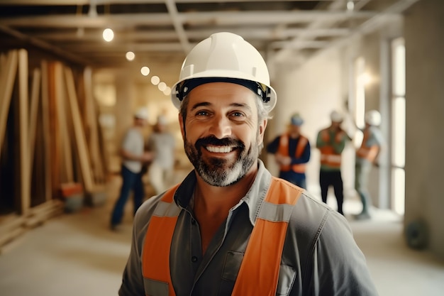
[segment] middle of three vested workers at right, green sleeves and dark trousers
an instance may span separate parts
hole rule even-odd
[[[340,127],[343,116],[338,111],[330,114],[331,125],[318,132],[316,148],[321,151],[321,169],[319,170],[319,184],[321,185],[322,201],[327,203],[328,187],[333,186],[338,212],[343,212],[344,190],[343,178],[340,175],[341,154],[345,143],[350,140]]]

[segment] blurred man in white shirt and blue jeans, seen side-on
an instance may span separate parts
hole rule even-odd
[[[116,200],[111,214],[111,230],[116,230],[121,224],[123,210],[128,197],[133,191],[133,212],[140,207],[145,197],[145,190],[142,182],[142,166],[152,159],[152,154],[145,152],[145,141],[143,139],[143,128],[147,124],[148,110],[140,108],[134,114],[134,122],[131,128],[128,128],[123,136],[120,150],[122,158],[121,192]]]

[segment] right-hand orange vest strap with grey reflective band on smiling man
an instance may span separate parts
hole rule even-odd
[[[292,207],[302,191],[287,181],[272,177],[231,295],[276,295],[287,226]],[[273,214],[264,207],[267,203],[274,206]]]

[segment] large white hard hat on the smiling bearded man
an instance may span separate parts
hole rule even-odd
[[[171,99],[177,109],[194,87],[208,82],[241,84],[260,95],[267,111],[276,104],[276,92],[270,87],[270,75],[262,55],[240,35],[214,33],[198,43],[187,55]]]

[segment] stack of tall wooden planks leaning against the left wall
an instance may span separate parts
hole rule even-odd
[[[66,211],[67,184],[82,187],[81,206],[106,199],[91,70],[28,62],[24,49],[0,54],[0,248]]]

